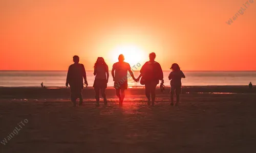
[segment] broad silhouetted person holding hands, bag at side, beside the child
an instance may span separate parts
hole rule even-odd
[[[140,75],[137,80],[141,78],[140,83],[145,85],[145,93],[147,97],[147,105],[152,106],[155,105],[155,97],[156,97],[156,86],[159,84],[159,80],[161,80],[161,85],[163,85],[163,70],[161,65],[155,61],[156,54],[150,54],[150,61],[146,62],[140,70]],[[143,83],[142,83],[143,82]]]

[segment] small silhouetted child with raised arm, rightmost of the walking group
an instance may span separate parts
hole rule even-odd
[[[178,106],[181,93],[181,78],[185,78],[185,75],[180,70],[179,65],[176,63],[174,63],[172,67],[170,67],[170,69],[172,70],[168,77],[168,79],[170,80],[170,105],[174,105],[174,93],[176,93],[175,106]]]

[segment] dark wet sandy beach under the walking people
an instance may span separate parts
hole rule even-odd
[[[67,88],[1,87],[0,141],[20,129],[1,143],[1,153],[256,150],[255,88],[183,87],[178,108],[168,106],[168,91],[157,89],[156,106],[148,107],[144,89],[128,89],[120,108],[113,88],[106,90],[109,104],[101,100],[100,107],[87,88],[84,105],[72,108]]]

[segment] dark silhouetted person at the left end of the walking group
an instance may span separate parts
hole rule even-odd
[[[73,106],[76,107],[76,99],[79,98],[79,105],[82,105],[82,88],[83,88],[83,79],[84,84],[88,86],[86,79],[86,69],[84,69],[83,64],[79,64],[79,57],[73,57],[74,64],[69,66],[67,74],[66,86],[70,85],[71,90],[71,101]]]

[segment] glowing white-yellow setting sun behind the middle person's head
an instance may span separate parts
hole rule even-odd
[[[120,54],[124,56],[124,61],[129,63],[131,67],[138,63],[143,65],[148,58],[146,53],[136,45],[122,45],[115,47],[111,53],[112,61],[118,62],[118,56]]]

